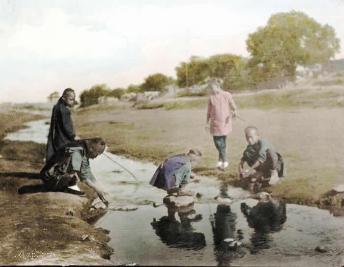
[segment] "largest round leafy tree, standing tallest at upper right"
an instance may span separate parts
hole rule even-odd
[[[246,44],[252,55],[249,66],[260,78],[293,78],[297,65],[322,63],[340,51],[333,27],[297,11],[272,15]]]

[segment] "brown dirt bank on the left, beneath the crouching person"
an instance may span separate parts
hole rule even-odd
[[[3,140],[23,122],[39,119],[29,114],[1,114],[0,145],[0,264],[110,265],[112,249],[107,231],[92,227],[105,212],[89,211],[93,192],[79,197],[59,192],[18,194],[23,186],[39,185],[45,145]],[[38,190],[39,191],[39,190]]]

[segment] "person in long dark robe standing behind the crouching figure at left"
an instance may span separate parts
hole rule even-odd
[[[62,145],[80,140],[80,137],[75,135],[69,109],[73,107],[74,101],[74,90],[67,88],[63,91],[62,97],[53,108],[48,134],[46,162]]]

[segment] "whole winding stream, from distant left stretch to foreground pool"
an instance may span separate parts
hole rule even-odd
[[[6,137],[10,140],[46,142],[46,120],[30,122],[29,128]],[[110,208],[135,207],[135,211],[112,211],[97,227],[109,229],[115,249],[114,264],[187,266],[341,266],[344,248],[344,218],[327,210],[258,201],[240,188],[215,178],[201,177],[188,188],[203,196],[188,209],[168,211],[161,205],[164,190],[149,186],[156,169],[152,163],[106,154],[91,160],[95,177],[113,198]],[[227,192],[233,200],[224,205],[214,197]],[[99,200],[95,201],[99,202]],[[175,213],[174,213],[175,212]],[[230,247],[234,239],[241,242]],[[315,247],[325,246],[327,253]]]

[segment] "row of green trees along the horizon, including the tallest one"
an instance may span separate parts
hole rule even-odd
[[[100,96],[120,98],[130,92],[164,91],[169,84],[189,87],[203,84],[209,77],[222,78],[223,88],[230,91],[256,89],[269,79],[294,80],[298,65],[328,61],[340,51],[340,40],[333,27],[322,26],[303,12],[290,11],[273,14],[265,27],[249,34],[246,48],[249,58],[230,53],[191,56],[175,67],[176,80],[156,73],[125,89],[94,85],[82,92],[81,106],[97,104]]]

